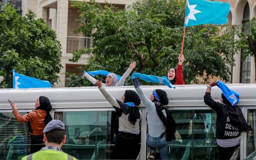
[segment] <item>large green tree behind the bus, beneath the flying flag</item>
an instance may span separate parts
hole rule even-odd
[[[177,67],[181,51],[186,3],[183,0],[144,0],[119,10],[111,4],[95,1],[77,2],[83,24],[75,33],[92,37],[92,48],[76,50],[70,61],[92,53],[87,70],[104,69],[122,75],[130,61],[136,60],[140,73],[166,76],[170,67]],[[233,55],[239,50],[233,37],[236,29],[227,25],[197,25],[186,28],[183,75],[186,84],[198,83],[202,77],[220,76],[229,81]],[[69,81],[80,76],[72,75]],[[148,84],[141,82],[142,84]],[[128,78],[126,84],[132,82]],[[77,84],[76,84],[77,85]],[[79,85],[91,85],[82,81]],[[70,85],[72,86],[72,85]]]

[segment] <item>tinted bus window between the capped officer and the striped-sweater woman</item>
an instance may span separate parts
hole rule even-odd
[[[111,111],[63,112],[64,152],[77,159],[110,159]]]

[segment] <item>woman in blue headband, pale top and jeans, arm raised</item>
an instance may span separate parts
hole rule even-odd
[[[149,159],[155,159],[156,148],[159,149],[161,159],[169,159],[169,148],[166,146],[166,142],[175,139],[175,121],[164,108],[164,105],[169,102],[167,94],[164,90],[155,89],[149,100],[142,91],[138,79],[132,79],[132,83],[147,109]]]

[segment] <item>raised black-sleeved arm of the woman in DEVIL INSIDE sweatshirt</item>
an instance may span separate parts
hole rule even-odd
[[[214,101],[211,96],[212,87],[216,86],[217,82],[218,81],[215,80],[214,82],[209,83],[209,85],[207,85],[207,89],[204,95],[204,103],[218,113],[220,109],[223,107],[223,104]]]

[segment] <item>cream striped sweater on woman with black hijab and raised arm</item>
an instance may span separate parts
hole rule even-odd
[[[120,105],[117,103],[116,99],[111,96],[111,94],[105,89],[104,86],[101,86],[99,88],[100,92],[103,94],[103,96],[106,98],[106,100],[114,107],[120,108]],[[128,132],[132,134],[139,134],[140,133],[140,121],[141,121],[141,111],[140,111],[140,119],[137,119],[137,122],[135,122],[135,125],[132,125],[131,122],[128,121],[128,116],[122,113],[122,115],[119,118],[119,131]]]

